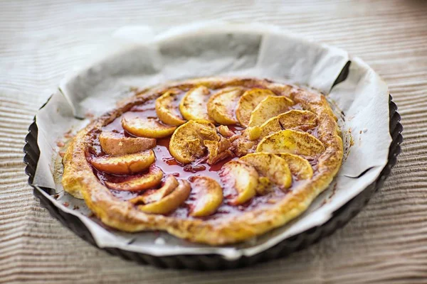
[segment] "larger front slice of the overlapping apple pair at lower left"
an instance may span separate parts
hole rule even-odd
[[[174,211],[189,197],[191,191],[190,183],[179,180],[179,185],[161,200],[145,205],[139,205],[138,209],[145,213],[167,214]]]

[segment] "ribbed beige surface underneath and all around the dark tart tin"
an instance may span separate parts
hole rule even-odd
[[[23,138],[60,79],[116,28],[274,23],[364,59],[403,116],[403,153],[344,229],[237,271],[162,271],[95,249],[53,219],[23,173]],[[427,1],[0,1],[0,283],[427,283]]]

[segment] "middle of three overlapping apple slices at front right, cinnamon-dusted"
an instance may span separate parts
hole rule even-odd
[[[252,165],[258,174],[268,178],[280,187],[288,188],[292,185],[292,176],[288,163],[278,155],[271,153],[252,153],[239,160]]]

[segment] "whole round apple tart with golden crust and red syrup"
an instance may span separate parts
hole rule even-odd
[[[233,244],[304,212],[342,155],[322,94],[209,77],[136,92],[90,122],[68,145],[62,184],[112,228]]]

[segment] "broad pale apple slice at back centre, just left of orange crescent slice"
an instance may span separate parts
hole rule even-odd
[[[243,93],[239,87],[223,89],[214,94],[208,102],[208,114],[218,124],[237,124],[236,104]]]

